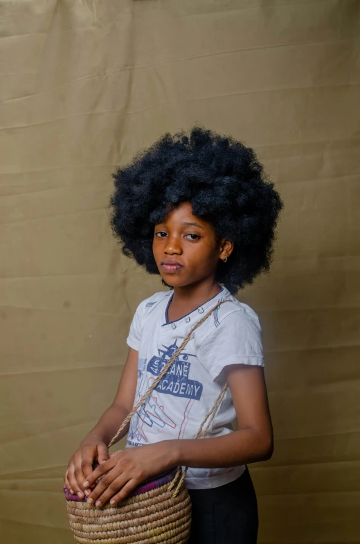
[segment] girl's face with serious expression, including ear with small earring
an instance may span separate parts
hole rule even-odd
[[[219,258],[230,255],[233,244],[219,238],[210,223],[192,214],[182,202],[155,225],[152,251],[161,277],[173,287],[215,278]]]

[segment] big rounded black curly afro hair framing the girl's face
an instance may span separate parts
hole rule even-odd
[[[235,294],[269,272],[283,203],[255,152],[241,141],[198,125],[190,134],[167,132],[112,177],[111,229],[123,254],[150,274],[159,274],[154,225],[181,202],[190,202],[195,216],[234,243],[226,265],[217,267],[218,283]]]

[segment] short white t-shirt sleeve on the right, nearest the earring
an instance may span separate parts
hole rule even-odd
[[[215,380],[228,365],[264,367],[262,329],[254,311],[226,315],[197,348],[197,358]]]

